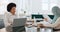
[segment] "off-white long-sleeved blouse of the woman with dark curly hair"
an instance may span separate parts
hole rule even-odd
[[[5,23],[5,27],[7,26],[12,26],[11,24],[13,24],[13,19],[16,17],[16,15],[12,15],[11,13],[5,13],[5,17],[4,17],[4,23]]]

